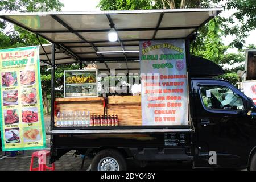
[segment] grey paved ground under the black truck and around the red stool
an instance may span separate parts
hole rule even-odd
[[[46,131],[49,130],[49,117],[45,117],[45,128]],[[49,135],[46,136],[47,148],[49,148]],[[10,156],[4,156],[5,153],[0,151],[0,171],[26,171],[30,168],[31,154],[35,150],[25,151],[24,154],[19,152],[14,158]],[[84,167],[81,169],[82,159],[80,156],[73,156],[75,151],[70,151],[60,158],[59,161],[55,162],[55,168],[57,171],[78,171],[78,170],[88,170],[90,166],[91,159],[86,159],[84,163]],[[9,155],[9,154],[7,154]],[[47,158],[47,162],[49,159]],[[37,160],[34,161],[37,163]],[[36,167],[36,165],[34,165]],[[163,162],[155,162],[149,163],[146,167],[139,167],[138,163],[134,163],[133,160],[127,160],[127,169],[130,170],[158,170],[158,171],[166,171],[166,170],[191,170],[191,166],[189,164],[177,164],[177,163],[163,163]]]

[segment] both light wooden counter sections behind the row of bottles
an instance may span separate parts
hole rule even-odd
[[[104,98],[55,98],[56,111],[90,111],[90,114],[104,114]],[[141,96],[109,96],[107,114],[118,115],[120,126],[141,126]],[[55,116],[56,121],[56,116]]]

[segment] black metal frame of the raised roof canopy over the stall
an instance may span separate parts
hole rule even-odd
[[[65,60],[65,59],[73,59],[69,60],[70,64],[73,63],[79,63],[80,65],[82,63],[88,63],[90,61],[98,62],[98,63],[104,63],[105,61],[111,61],[111,60],[117,60],[120,61],[121,63],[126,64],[126,71],[129,73],[128,65],[127,63],[129,61],[133,60],[139,60],[139,55],[135,54],[136,56],[130,56],[129,53],[119,53],[119,57],[110,57],[107,56],[105,57],[102,53],[98,53],[98,47],[105,47],[105,48],[115,48],[119,47],[122,51],[126,51],[126,48],[136,46],[138,47],[138,42],[139,41],[144,41],[144,40],[165,40],[165,39],[188,39],[191,37],[192,34],[194,34],[198,28],[203,26],[205,23],[207,23],[210,19],[214,18],[214,16],[218,15],[222,9],[220,8],[213,8],[213,9],[166,9],[166,10],[122,10],[122,11],[80,11],[80,12],[36,12],[36,13],[0,13],[0,18],[7,20],[10,23],[16,24],[17,26],[20,26],[24,28],[27,31],[30,31],[37,36],[41,36],[42,38],[48,40],[49,42],[55,44],[55,48],[57,49],[55,53],[64,53],[68,57],[63,57],[63,58],[55,58],[55,60]],[[205,19],[203,22],[201,22],[197,26],[187,26],[186,24],[183,24],[183,26],[172,26],[172,27],[161,27],[162,20],[164,18],[165,14],[168,13],[200,13],[200,12],[207,12],[209,14],[209,17]],[[110,42],[108,40],[86,40],[84,36],[82,36],[80,33],[97,33],[97,32],[109,32],[109,28],[98,28],[97,25],[94,26],[93,28],[90,29],[82,29],[82,30],[76,30],[76,28],[71,27],[65,19],[61,19],[59,15],[105,15],[105,17],[108,19],[109,24],[116,24],[115,20],[112,19],[112,15],[118,15],[122,14],[129,16],[130,14],[143,14],[143,15],[148,15],[148,14],[153,14],[153,15],[159,15],[159,18],[157,20],[156,26],[154,27],[138,27],[138,28],[117,28],[114,26],[115,31],[119,34],[119,32],[134,32],[134,31],[153,31],[152,37],[148,38],[133,38],[133,39],[121,39],[118,35],[118,41],[117,42]],[[65,30],[57,30],[55,28],[52,28],[51,30],[44,30],[44,28],[39,28],[38,30],[34,30],[32,28],[24,26],[22,22],[17,22],[17,20],[13,20],[10,17],[13,16],[47,16],[51,17],[54,19],[57,23],[60,23],[61,26],[65,28]],[[63,17],[63,16],[61,16]],[[68,17],[68,16],[67,16]],[[182,37],[175,37],[175,38],[156,38],[156,35],[158,34],[159,31],[168,31],[168,30],[192,30],[189,32],[188,35],[182,36]],[[70,41],[58,41],[58,40],[53,40],[51,38],[48,38],[45,33],[51,33],[51,34],[63,34],[63,33],[72,33],[73,35],[76,35],[77,39],[76,41],[70,40]],[[86,51],[86,52],[81,52],[81,51],[73,51],[72,48],[92,48],[92,51]],[[46,52],[41,53],[40,55],[46,55],[47,60],[42,59],[41,61],[45,64],[51,65],[51,61],[49,60],[48,55],[50,55],[51,52]],[[88,56],[86,56],[88,55]],[[95,56],[93,56],[95,55]],[[90,57],[93,56],[93,57]],[[75,61],[74,61],[75,60]],[[69,64],[66,63],[66,64]],[[56,64],[57,61],[56,61]],[[63,64],[63,63],[61,63]],[[108,65],[106,65],[106,68],[108,71],[110,70]]]

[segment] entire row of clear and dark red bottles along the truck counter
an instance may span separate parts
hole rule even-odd
[[[118,126],[117,115],[90,115],[89,111],[63,111],[57,113],[57,127]]]

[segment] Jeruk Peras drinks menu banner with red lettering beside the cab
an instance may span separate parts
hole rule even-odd
[[[139,42],[142,125],[188,125],[185,40]]]

